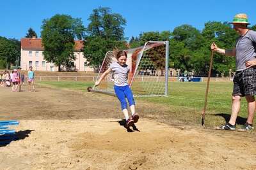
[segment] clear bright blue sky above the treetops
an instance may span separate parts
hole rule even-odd
[[[125,18],[124,33],[129,39],[141,32],[172,32],[183,24],[202,31],[205,23],[232,22],[237,13],[246,13],[248,22],[256,25],[255,0],[0,0],[0,36],[24,38],[31,27],[40,37],[42,21],[56,14],[81,18],[87,27],[99,6]]]

